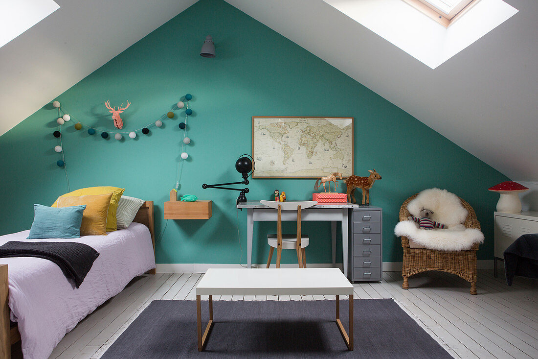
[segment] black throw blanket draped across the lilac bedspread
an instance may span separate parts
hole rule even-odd
[[[91,269],[99,253],[94,248],[76,242],[21,242],[9,241],[0,246],[0,258],[37,257],[57,264],[63,275],[78,288]]]

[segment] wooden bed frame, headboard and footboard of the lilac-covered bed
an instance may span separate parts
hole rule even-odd
[[[153,256],[155,256],[155,227],[153,217],[153,201],[146,201],[138,210],[133,222],[141,223],[148,227],[153,244]],[[155,274],[155,269],[147,271],[148,274]],[[20,341],[18,327],[10,328],[9,309],[9,279],[8,265],[0,265],[0,358],[11,357],[11,346]]]

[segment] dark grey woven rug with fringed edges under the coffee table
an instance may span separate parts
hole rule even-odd
[[[335,301],[214,301],[199,353],[196,302],[153,301],[102,356],[118,358],[451,358],[392,299],[355,300],[355,350],[335,323]],[[208,321],[202,302],[202,330]],[[348,330],[348,301],[340,301]]]

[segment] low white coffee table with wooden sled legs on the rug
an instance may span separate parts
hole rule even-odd
[[[196,286],[198,350],[206,346],[213,327],[213,295],[323,295],[336,296],[336,324],[353,350],[353,286],[338,268],[210,268]],[[209,322],[202,335],[201,295],[209,295]],[[349,295],[349,335],[340,321],[339,296]]]

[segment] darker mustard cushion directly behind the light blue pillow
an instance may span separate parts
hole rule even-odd
[[[69,196],[59,197],[56,202],[60,208],[86,204],[86,209],[82,213],[80,235],[106,236],[107,213],[111,197],[111,193],[106,195]]]

